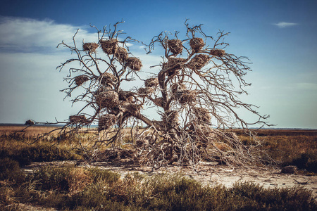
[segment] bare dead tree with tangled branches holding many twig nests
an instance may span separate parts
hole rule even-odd
[[[69,68],[66,82],[70,85],[63,91],[70,97],[81,89],[72,101],[84,106],[69,117],[67,125],[98,124],[96,147],[120,142],[123,129],[132,125],[131,139],[139,161],[145,165],[195,165],[201,159],[244,165],[261,160],[253,153],[256,146],[244,146],[235,134],[225,131],[232,127],[248,129],[250,124],[268,125],[263,121],[267,116],[257,113],[256,106],[238,98],[247,94],[244,87],[250,84],[244,81],[244,75],[250,69],[246,57],[225,51],[228,44],[224,38],[229,33],[218,32],[213,39],[201,25],[191,27],[187,21],[184,37],[179,32],[161,32],[147,45],[147,53],[154,47],[163,48],[162,62],[153,65],[159,67],[159,73],[143,79],[144,86],[139,89],[123,90],[124,82],[137,77],[142,62],[128,48],[137,40],[123,39],[119,24],[113,30],[97,30],[97,43],[77,46],[76,32],[73,46],[63,41],[58,45],[76,56],[59,65],[58,70],[80,64]],[[146,117],[146,106],[155,106],[161,118]],[[256,122],[244,121],[238,114],[241,109],[254,114]],[[137,130],[139,122],[146,127]]]

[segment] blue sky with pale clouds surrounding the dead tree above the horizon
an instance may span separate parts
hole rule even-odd
[[[15,1],[0,8],[0,123],[66,120],[77,113],[59,90],[66,72],[56,66],[71,58],[56,49],[79,41],[95,41],[95,30],[124,20],[127,35],[149,43],[161,31],[185,32],[184,22],[204,24],[215,36],[230,32],[229,53],[248,56],[252,85],[243,101],[260,106],[275,127],[317,128],[317,1]],[[137,56],[147,65],[159,53]],[[159,51],[158,51],[159,52]],[[141,84],[139,85],[141,86]],[[248,115],[246,114],[246,118]]]

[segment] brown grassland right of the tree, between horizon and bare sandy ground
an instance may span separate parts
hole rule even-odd
[[[250,139],[240,135],[244,143]],[[304,130],[260,130],[262,149],[278,162],[280,167],[294,165],[304,174],[317,173],[317,134]]]

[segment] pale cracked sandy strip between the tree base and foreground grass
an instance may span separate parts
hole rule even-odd
[[[25,171],[32,172],[41,165],[66,165],[77,164],[82,167],[100,167],[104,170],[118,172],[121,177],[126,174],[139,172],[140,174],[180,174],[200,181],[202,184],[210,186],[224,185],[232,186],[235,182],[251,181],[260,184],[265,188],[282,188],[302,186],[312,191],[313,196],[317,199],[317,176],[304,176],[302,174],[282,174],[281,170],[273,167],[228,167],[224,165],[216,165],[210,162],[202,162],[197,166],[196,170],[192,167],[161,167],[159,170],[153,170],[151,167],[139,167],[131,165],[128,162],[34,162],[32,165],[25,167]]]

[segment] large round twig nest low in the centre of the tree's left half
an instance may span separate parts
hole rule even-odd
[[[100,108],[116,108],[119,104],[119,96],[116,91],[105,90],[97,94],[95,98]]]

